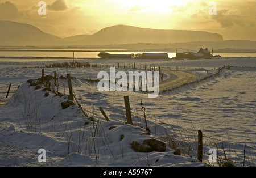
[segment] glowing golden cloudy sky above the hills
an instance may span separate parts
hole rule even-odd
[[[208,31],[221,34],[224,40],[256,41],[255,0],[44,0],[46,15],[38,14],[39,2],[0,0],[0,20],[28,23],[59,37],[92,35],[124,24]],[[216,4],[216,14],[210,2]]]

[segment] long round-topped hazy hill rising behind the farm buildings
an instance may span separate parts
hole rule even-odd
[[[189,41],[223,41],[217,33],[204,31],[164,30],[117,25],[101,29],[84,40],[82,45],[109,45],[131,43],[184,43]]]

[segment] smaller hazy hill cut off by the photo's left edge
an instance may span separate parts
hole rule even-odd
[[[0,21],[0,45],[59,45],[62,39],[30,24]]]

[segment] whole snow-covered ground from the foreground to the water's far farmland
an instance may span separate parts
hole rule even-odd
[[[0,65],[0,166],[219,166],[225,156],[236,166],[255,166],[256,161],[256,58],[216,58],[212,60],[83,60],[90,64],[109,65],[103,68],[44,68],[45,75],[71,74],[76,98],[85,114],[75,105],[61,108],[65,96],[49,91],[35,90],[26,83],[41,77],[41,68],[47,62],[14,63]],[[81,62],[83,62],[81,61]],[[61,61],[57,61],[61,62]],[[160,92],[158,98],[148,98],[144,92],[100,92],[97,83],[84,79],[97,79],[100,71],[160,66],[162,71],[176,70],[195,75],[193,82],[176,90]],[[126,68],[123,68],[123,65]],[[24,68],[26,67],[26,68]],[[174,75],[164,73],[171,82]],[[189,81],[189,82],[192,82]],[[9,84],[11,93],[6,99]],[[20,85],[19,89],[18,86]],[[172,89],[176,86],[169,87]],[[67,80],[59,79],[59,92],[68,95]],[[123,96],[129,96],[133,124],[125,124]],[[146,109],[147,126],[141,111]],[[110,121],[104,120],[102,107]],[[93,116],[95,122],[89,120]],[[197,160],[197,130],[203,132],[203,162]],[[133,141],[155,138],[167,144],[164,152],[139,152],[131,147]],[[39,149],[46,150],[46,163],[39,163]],[[181,155],[174,152],[180,149]],[[209,149],[217,150],[218,163],[209,163]]]

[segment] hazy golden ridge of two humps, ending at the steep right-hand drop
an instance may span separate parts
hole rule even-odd
[[[204,31],[151,29],[116,25],[93,35],[60,38],[31,24],[0,21],[0,45],[112,45],[132,43],[181,43],[189,41],[223,41],[222,35]]]

